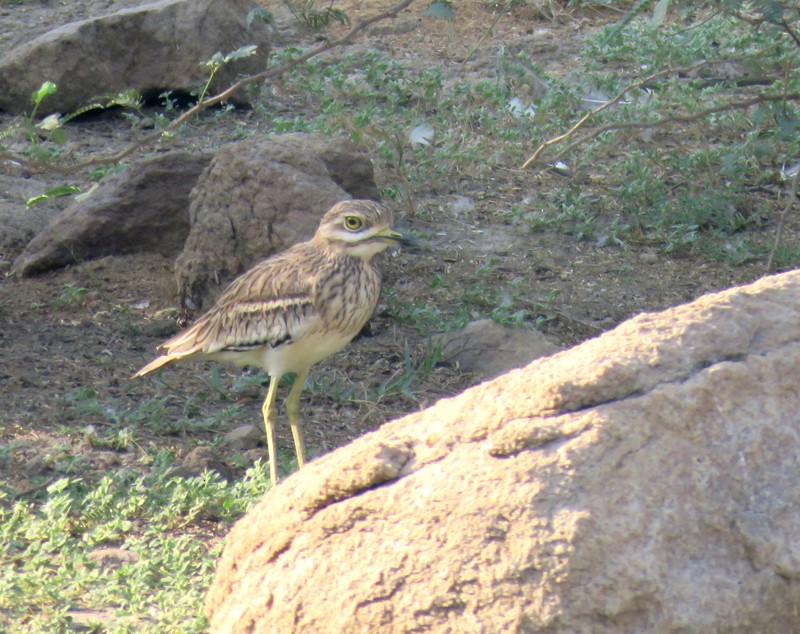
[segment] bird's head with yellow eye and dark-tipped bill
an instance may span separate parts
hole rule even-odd
[[[416,245],[412,237],[394,231],[393,222],[392,212],[372,200],[344,200],[322,217],[314,240],[364,260],[393,244]]]

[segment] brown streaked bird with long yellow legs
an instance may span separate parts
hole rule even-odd
[[[262,368],[269,375],[261,413],[275,486],[278,383],[283,375],[295,374],[286,412],[302,468],[300,394],[309,369],[344,348],[374,313],[381,290],[376,256],[393,245],[418,244],[395,231],[393,222],[392,212],[375,201],[336,203],[311,240],[262,260],[236,278],[208,312],[161,344],[160,356],[132,378],[187,360]]]

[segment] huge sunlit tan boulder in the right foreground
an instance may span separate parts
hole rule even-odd
[[[635,317],[289,477],[214,632],[790,632],[800,272]]]

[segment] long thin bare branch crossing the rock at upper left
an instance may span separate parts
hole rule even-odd
[[[83,169],[86,169],[87,167],[94,167],[95,165],[107,165],[109,163],[113,164],[119,163],[121,160],[123,160],[125,157],[129,156],[136,150],[155,143],[164,135],[164,133],[177,129],[178,127],[186,123],[186,121],[194,117],[196,114],[199,114],[200,112],[202,112],[207,108],[210,108],[211,106],[226,101],[231,95],[233,95],[238,90],[242,89],[244,86],[248,86],[258,81],[272,79],[274,77],[280,77],[281,75],[287,73],[296,66],[299,66],[303,62],[308,61],[312,57],[316,57],[317,55],[324,53],[325,51],[330,50],[332,48],[336,48],[344,44],[347,44],[356,35],[358,35],[358,33],[363,31],[371,24],[379,22],[380,20],[385,20],[386,18],[395,17],[398,13],[400,13],[403,9],[407,8],[413,2],[414,0],[402,0],[401,2],[398,2],[394,6],[386,9],[385,11],[376,13],[375,15],[372,15],[368,18],[364,18],[363,20],[358,20],[353,25],[353,28],[351,28],[347,33],[345,33],[339,38],[336,38],[335,40],[327,40],[326,42],[323,42],[322,44],[307,50],[302,55],[289,60],[288,62],[282,64],[277,68],[270,68],[255,75],[249,75],[248,77],[243,77],[242,79],[237,81],[235,84],[233,84],[226,90],[223,90],[221,93],[218,93],[213,97],[209,97],[208,99],[196,103],[194,106],[192,106],[189,110],[184,112],[180,117],[175,119],[163,130],[159,130],[158,132],[154,132],[153,134],[149,134],[143,137],[136,143],[131,144],[130,146],[128,146],[124,150],[121,150],[120,152],[117,152],[116,154],[111,154],[109,156],[103,156],[103,157],[95,157],[92,159],[88,159],[86,161],[82,161],[80,163],[76,163],[75,165],[69,165],[69,166],[41,163],[38,161],[28,161],[26,159],[23,159],[22,157],[13,154],[6,154],[4,152],[0,153],[0,159],[15,161],[20,165],[27,167],[28,169],[36,171],[51,171],[59,174],[72,174],[75,172],[79,172]]]

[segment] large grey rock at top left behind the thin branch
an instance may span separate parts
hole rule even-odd
[[[38,114],[69,113],[108,94],[134,89],[188,93],[208,78],[201,63],[221,52],[256,45],[256,54],[224,65],[211,94],[240,75],[267,67],[269,40],[260,20],[246,24],[250,0],[160,0],[71,22],[5,53],[0,61],[0,109],[30,110],[30,95],[45,81],[58,91]],[[122,34],[122,35],[121,35]],[[91,63],[89,63],[91,61]],[[247,104],[246,92],[231,97]]]

